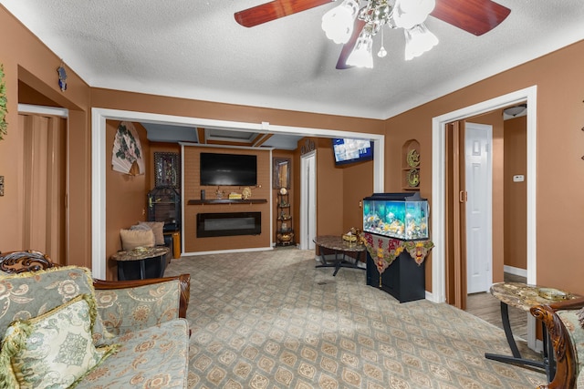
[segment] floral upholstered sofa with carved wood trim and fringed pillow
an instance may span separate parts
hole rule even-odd
[[[94,281],[38,251],[0,271],[0,388],[187,387],[188,274]]]

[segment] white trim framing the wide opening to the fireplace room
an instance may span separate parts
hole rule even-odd
[[[369,138],[373,141],[373,190],[384,188],[385,136],[365,132],[342,131],[328,128],[277,126],[268,122],[249,123],[208,118],[128,111],[102,107],[91,108],[91,271],[97,279],[106,279],[106,120],[141,121],[147,123],[215,127],[234,131],[292,134],[319,138]],[[184,169],[184,167],[182,167]],[[184,171],[184,170],[183,170]],[[182,185],[184,187],[184,185]],[[184,191],[184,189],[182,189]],[[184,193],[181,193],[184,197]],[[184,202],[183,202],[184,203]],[[183,215],[184,216],[184,215]],[[184,223],[183,223],[184,225]],[[182,231],[184,232],[184,231]],[[183,241],[183,240],[181,240]],[[184,241],[182,242],[184,245]]]

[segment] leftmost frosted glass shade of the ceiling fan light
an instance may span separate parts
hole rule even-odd
[[[359,11],[359,2],[355,0],[344,0],[339,6],[336,6],[325,15],[322,15],[322,29],[328,39],[339,44],[349,42],[353,34],[355,18]]]

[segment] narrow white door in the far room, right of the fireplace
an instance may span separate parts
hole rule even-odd
[[[317,152],[300,159],[300,249],[314,250],[317,236]]]

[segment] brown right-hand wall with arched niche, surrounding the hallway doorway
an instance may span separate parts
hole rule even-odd
[[[576,275],[581,268],[579,259],[573,255],[574,242],[581,239],[579,215],[584,210],[584,180],[574,179],[584,175],[580,159],[584,136],[579,130],[584,123],[581,61],[584,41],[388,119],[386,189],[398,188],[392,154],[404,138],[410,138],[409,133],[421,139],[423,160],[431,159],[432,118],[537,86],[537,283],[584,293]],[[424,162],[421,192],[422,197],[430,198],[432,176],[425,167]],[[570,188],[562,190],[566,182]],[[558,192],[570,211],[558,209]],[[426,266],[431,265],[432,258],[429,260]]]

